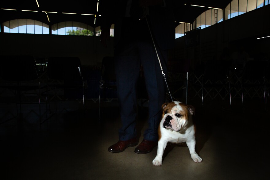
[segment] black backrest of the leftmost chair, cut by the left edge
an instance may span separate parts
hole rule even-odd
[[[0,56],[0,77],[6,81],[30,81],[38,79],[36,62],[33,56]]]

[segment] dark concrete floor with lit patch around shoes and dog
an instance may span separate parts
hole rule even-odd
[[[87,180],[87,179],[269,179],[269,110],[251,101],[235,105],[233,112],[209,103],[191,102],[197,124],[196,151],[203,158],[195,163],[187,147],[168,145],[161,167],[152,165],[157,147],[136,154],[135,147],[121,153],[107,149],[118,141],[120,119],[117,105],[105,107],[99,122],[98,102],[88,100],[83,118],[77,101],[58,103],[59,110],[39,124],[38,105],[23,105],[22,117],[0,124],[1,180]],[[1,103],[1,112],[11,104]],[[32,106],[32,107],[31,107]],[[45,108],[42,105],[42,118]],[[2,116],[1,116],[2,117]],[[147,107],[139,107],[138,132],[146,128]],[[143,139],[141,133],[140,141]]]

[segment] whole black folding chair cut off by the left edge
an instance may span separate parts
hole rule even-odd
[[[10,90],[12,94],[17,97],[16,99],[16,115],[7,112],[1,119],[4,119],[8,114],[12,114],[13,117],[2,121],[0,124],[9,121],[18,116],[18,102],[22,104],[39,104],[38,117],[41,121],[41,83],[39,75],[37,73],[36,62],[33,56],[1,56],[0,57],[0,72],[2,94],[6,93],[6,90]],[[33,99],[34,97],[34,99]],[[9,99],[10,101],[10,99]],[[36,101],[36,102],[35,102]],[[35,111],[32,109],[30,112]]]

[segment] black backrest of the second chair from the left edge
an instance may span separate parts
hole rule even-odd
[[[49,57],[48,79],[76,82],[82,78],[81,62],[78,57]]]

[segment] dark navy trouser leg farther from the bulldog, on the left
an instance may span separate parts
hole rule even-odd
[[[125,44],[121,52],[115,51],[115,69],[117,95],[122,127],[119,129],[119,140],[129,140],[137,136],[137,80],[140,70],[140,59],[137,56],[135,43]]]

